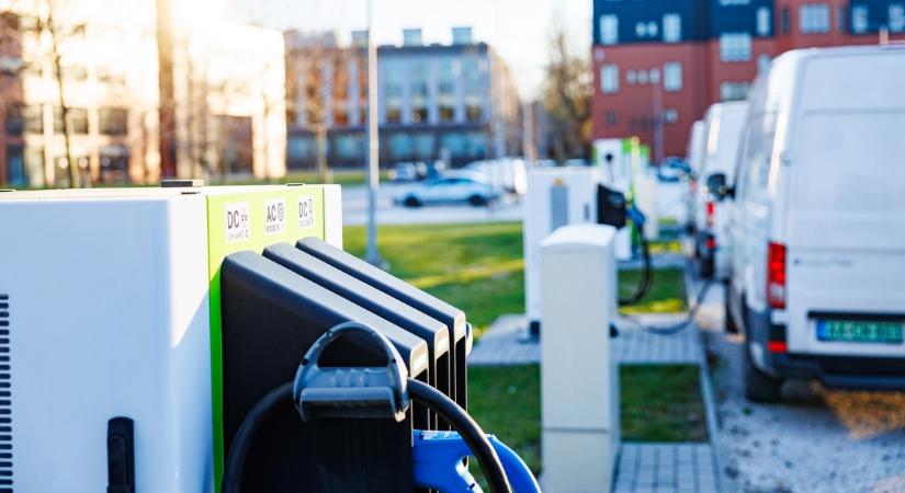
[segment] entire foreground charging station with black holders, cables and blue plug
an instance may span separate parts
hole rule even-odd
[[[178,185],[0,193],[0,490],[471,488],[471,449],[539,491],[465,414],[464,313],[341,250],[338,186]]]

